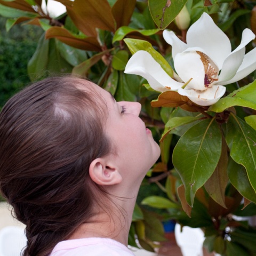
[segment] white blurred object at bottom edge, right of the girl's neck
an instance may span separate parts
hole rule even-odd
[[[184,226],[181,231],[176,223],[174,233],[183,256],[203,256],[204,233],[200,228]]]

